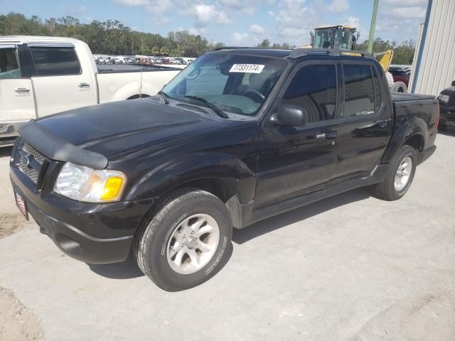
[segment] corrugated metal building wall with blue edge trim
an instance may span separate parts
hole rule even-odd
[[[433,94],[455,80],[455,0],[429,0],[414,53],[410,92]]]

